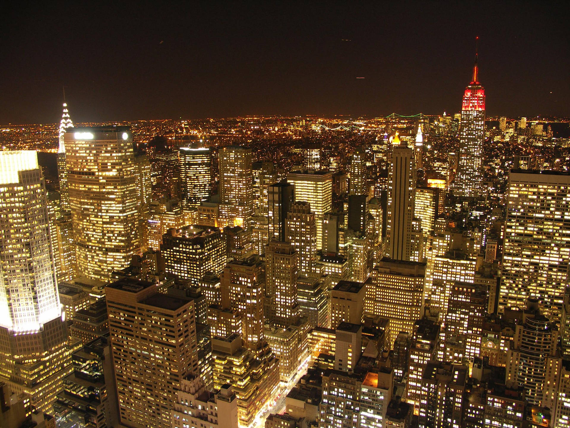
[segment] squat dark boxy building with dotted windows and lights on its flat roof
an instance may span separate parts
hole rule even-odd
[[[162,236],[161,254],[166,272],[196,284],[206,272],[219,275],[226,264],[225,240],[217,227],[169,229]]]

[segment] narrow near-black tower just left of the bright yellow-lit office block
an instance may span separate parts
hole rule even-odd
[[[295,201],[295,186],[275,183],[267,187],[267,218],[269,239],[285,241],[287,213]]]

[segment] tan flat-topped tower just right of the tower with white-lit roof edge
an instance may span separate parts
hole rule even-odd
[[[222,225],[249,228],[254,206],[251,150],[245,147],[222,147],[218,162]]]

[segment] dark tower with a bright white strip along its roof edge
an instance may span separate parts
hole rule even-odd
[[[210,197],[210,149],[181,147],[179,156],[182,206],[197,207]]]

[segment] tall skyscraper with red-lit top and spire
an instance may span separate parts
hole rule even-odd
[[[459,164],[453,181],[455,196],[478,197],[483,193],[483,142],[485,139],[485,90],[479,84],[475,54],[473,77],[465,88],[459,126]]]

